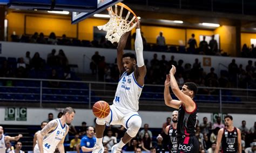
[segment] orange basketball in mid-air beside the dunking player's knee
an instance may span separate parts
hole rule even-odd
[[[92,112],[100,119],[105,118],[110,113],[109,103],[105,101],[97,101],[92,107]]]

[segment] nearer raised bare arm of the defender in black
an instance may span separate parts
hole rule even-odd
[[[192,112],[194,110],[194,107],[196,107],[195,103],[194,103],[193,99],[191,99],[190,96],[188,96],[180,91],[177,81],[174,77],[175,73],[176,73],[176,67],[172,65],[172,68],[170,70],[170,81],[171,81],[170,84],[171,84],[172,92],[186,106],[186,108],[188,109],[187,111],[190,112],[190,110],[191,110],[191,112]],[[185,91],[184,87],[182,90]],[[191,91],[191,92],[193,92],[193,91]]]

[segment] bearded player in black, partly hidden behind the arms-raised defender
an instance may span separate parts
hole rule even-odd
[[[178,122],[178,111],[174,110],[172,112],[172,125],[169,125],[165,128],[165,133],[169,135],[169,152],[176,153],[178,150],[178,143],[177,143],[177,122]]]

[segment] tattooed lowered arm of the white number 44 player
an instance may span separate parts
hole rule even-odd
[[[56,120],[52,120],[37,134],[37,143],[40,152],[43,152],[43,137],[50,131],[56,129],[57,126],[58,122]]]

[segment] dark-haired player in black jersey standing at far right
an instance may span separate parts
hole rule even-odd
[[[221,143],[221,152],[222,153],[241,153],[242,145],[241,145],[241,133],[238,128],[233,126],[233,117],[231,115],[227,115],[224,117],[225,120],[225,128],[221,128],[218,132],[217,136],[217,145],[216,145],[216,153],[219,153],[220,143]]]

